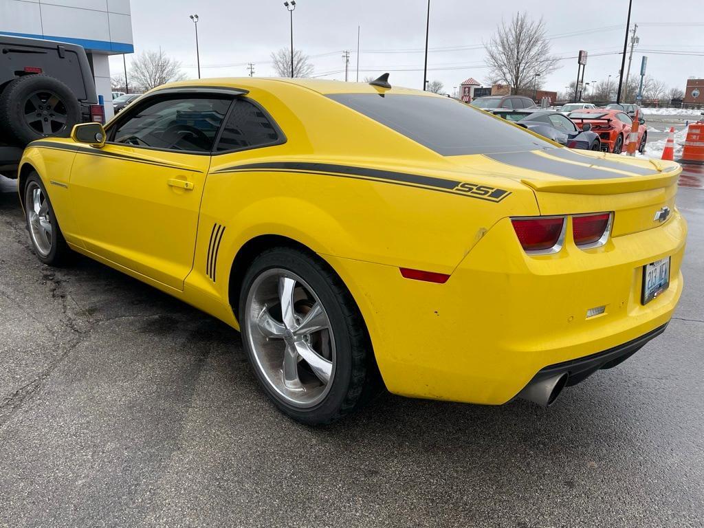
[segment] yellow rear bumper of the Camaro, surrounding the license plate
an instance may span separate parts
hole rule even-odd
[[[612,349],[655,337],[681,295],[685,239],[686,222],[675,213],[601,248],[584,251],[568,240],[558,254],[532,257],[505,219],[445,284],[404,279],[393,266],[325,258],[360,307],[389,391],[498,405],[543,369],[584,360],[578,370],[591,374],[618,356]],[[643,306],[643,265],[668,256],[670,287]],[[601,315],[587,317],[601,306]],[[591,362],[604,351],[605,360]]]

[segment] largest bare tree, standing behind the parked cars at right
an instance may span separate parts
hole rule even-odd
[[[531,20],[526,12],[516,13],[508,25],[502,20],[484,49],[491,84],[508,84],[512,93],[532,88],[537,76],[545,77],[558,69],[543,19]]]

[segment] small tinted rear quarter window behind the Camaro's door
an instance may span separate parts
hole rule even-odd
[[[215,151],[253,149],[278,144],[280,139],[277,128],[258,106],[246,99],[236,99]]]

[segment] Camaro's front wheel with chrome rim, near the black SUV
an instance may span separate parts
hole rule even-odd
[[[30,241],[37,258],[51,266],[70,263],[71,250],[56,220],[49,194],[37,172],[27,177],[24,190],[25,218]]]

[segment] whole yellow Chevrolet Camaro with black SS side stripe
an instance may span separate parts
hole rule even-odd
[[[552,403],[660,334],[679,165],[572,151],[453,99],[210,79],[27,147],[34,251],[240,329],[266,394],[330,422],[394,394]]]

